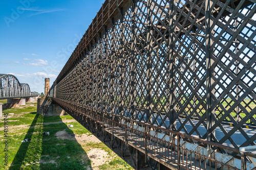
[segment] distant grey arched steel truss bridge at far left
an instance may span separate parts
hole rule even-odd
[[[13,75],[0,74],[0,99],[28,98],[39,93],[30,91],[27,83],[19,83]]]

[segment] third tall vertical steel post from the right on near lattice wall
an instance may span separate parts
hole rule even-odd
[[[153,30],[151,27],[152,22],[152,0],[147,0],[147,35],[146,35],[146,123],[152,124],[152,36]]]

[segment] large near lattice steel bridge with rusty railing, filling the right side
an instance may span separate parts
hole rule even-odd
[[[255,3],[106,0],[50,94],[136,169],[255,169]]]

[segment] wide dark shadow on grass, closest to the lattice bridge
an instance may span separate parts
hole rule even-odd
[[[44,117],[44,122],[52,122],[51,117]],[[59,116],[52,117],[62,121]],[[76,141],[75,134],[65,123],[44,125],[49,136],[42,137],[40,169],[87,169],[91,161],[81,145]]]

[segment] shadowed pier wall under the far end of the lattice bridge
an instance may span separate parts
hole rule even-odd
[[[65,112],[61,107],[53,103],[52,98],[38,98],[37,113],[42,116],[60,116]]]

